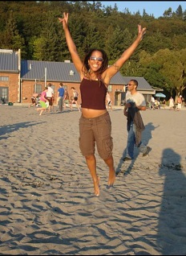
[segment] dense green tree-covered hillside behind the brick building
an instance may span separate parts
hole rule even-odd
[[[0,47],[21,49],[23,60],[71,60],[62,24],[58,18],[70,14],[69,27],[79,55],[91,47],[103,48],[113,64],[137,35],[137,25],[147,27],[143,41],[120,72],[143,76],[150,85],[177,97],[186,94],[186,10],[164,10],[155,19],[144,10],[131,14],[117,5],[87,1],[1,2]]]

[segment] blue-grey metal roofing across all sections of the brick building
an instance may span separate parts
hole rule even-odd
[[[0,49],[0,72],[18,72],[18,52]],[[63,81],[80,83],[80,76],[75,65],[70,61],[38,61],[21,60],[21,78],[24,81]],[[111,85],[127,85],[128,81],[135,79],[138,81],[138,89],[152,91],[152,86],[144,77],[122,76],[117,72],[111,78]]]

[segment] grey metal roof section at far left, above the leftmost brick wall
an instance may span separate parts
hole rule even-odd
[[[18,72],[18,52],[0,49],[0,71]]]

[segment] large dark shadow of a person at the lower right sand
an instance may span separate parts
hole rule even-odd
[[[156,244],[162,255],[186,255],[186,177],[180,155],[164,149],[160,176],[164,175],[164,194]]]

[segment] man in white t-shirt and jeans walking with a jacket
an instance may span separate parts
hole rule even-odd
[[[150,147],[141,142],[144,122],[139,110],[146,110],[144,95],[137,91],[138,81],[131,80],[127,84],[126,104],[123,114],[127,117],[127,152],[123,161],[134,159],[134,147],[139,148],[143,156],[148,155]]]

